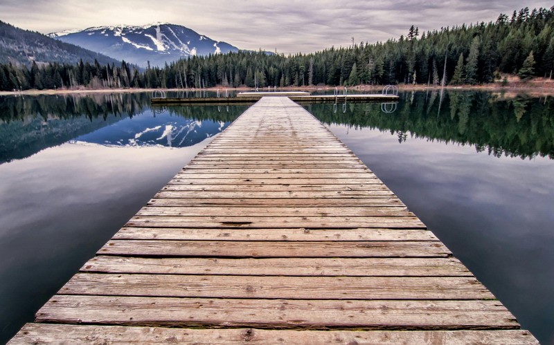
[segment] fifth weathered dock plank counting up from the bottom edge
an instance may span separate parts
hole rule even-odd
[[[99,255],[133,257],[449,257],[436,241],[244,242],[110,240]]]

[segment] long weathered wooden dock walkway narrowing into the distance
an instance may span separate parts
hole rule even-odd
[[[10,344],[537,344],[328,129],[264,97]]]

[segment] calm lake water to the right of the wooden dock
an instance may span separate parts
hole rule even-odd
[[[438,93],[404,93],[396,107],[307,109],[524,328],[554,344],[552,98],[465,92],[440,102]]]

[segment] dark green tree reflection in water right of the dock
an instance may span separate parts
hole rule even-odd
[[[347,104],[346,112],[314,104],[307,109],[326,124],[390,131],[410,137],[472,145],[493,156],[554,158],[554,100],[481,92],[403,93],[392,113],[382,104]],[[440,106],[440,109],[439,109]]]

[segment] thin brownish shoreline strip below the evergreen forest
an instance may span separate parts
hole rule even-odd
[[[357,85],[347,86],[348,90],[352,91],[371,91],[371,93],[381,93],[385,85]],[[427,91],[434,90],[440,91],[440,86],[427,86],[427,84],[399,84],[396,85],[400,91]],[[334,88],[339,88],[339,92],[345,86],[286,86],[278,87],[278,91],[332,91]],[[444,87],[446,90],[458,90],[458,91],[485,91],[495,93],[518,93],[526,94],[530,96],[541,97],[545,95],[554,95],[554,80],[534,80],[530,82],[509,82],[508,85],[503,86],[500,83],[494,84],[482,84],[482,85],[448,85]],[[224,88],[211,87],[211,88],[100,88],[100,89],[47,89],[47,90],[24,90],[24,91],[0,91],[0,96],[6,95],[64,95],[64,94],[105,94],[105,93],[139,93],[139,92],[154,92],[157,90],[171,91],[171,92],[198,92],[198,91],[253,91],[255,88],[250,87],[238,87],[238,88]],[[265,88],[259,88],[259,91],[264,91]]]

